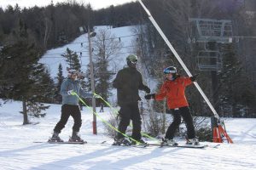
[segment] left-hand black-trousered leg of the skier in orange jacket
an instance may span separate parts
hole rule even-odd
[[[179,124],[181,123],[181,116],[179,110],[172,110],[173,121],[166,131],[166,139],[173,139]]]

